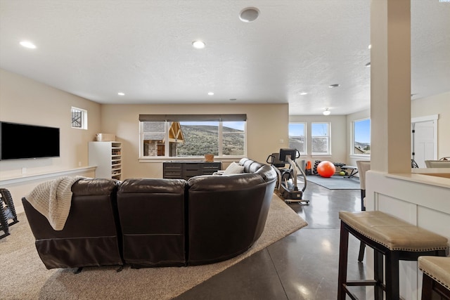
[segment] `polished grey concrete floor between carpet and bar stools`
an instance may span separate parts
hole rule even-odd
[[[302,188],[302,186],[300,186]],[[360,190],[328,190],[307,184],[303,199],[291,203],[308,226],[193,287],[177,300],[296,299],[328,300],[338,294],[338,256],[341,210],[361,209]],[[348,278],[365,278],[357,261],[359,241],[350,236]],[[365,299],[364,287],[355,287]]]

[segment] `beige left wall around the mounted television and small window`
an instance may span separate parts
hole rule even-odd
[[[88,111],[88,130],[71,128],[72,106]],[[12,183],[11,178],[87,167],[87,143],[100,131],[100,110],[98,103],[0,69],[1,121],[60,128],[60,157],[0,162],[0,186],[11,191],[15,206],[21,207],[20,198],[44,179]],[[89,176],[90,173],[82,174]]]

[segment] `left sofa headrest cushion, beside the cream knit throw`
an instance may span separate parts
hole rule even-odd
[[[120,181],[107,178],[84,178],[72,185],[74,196],[109,195],[117,189]]]

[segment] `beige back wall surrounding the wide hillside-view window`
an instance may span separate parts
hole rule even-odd
[[[102,105],[101,128],[122,142],[122,178],[162,177],[162,160],[139,162],[139,114],[247,114],[247,156],[266,162],[269,154],[288,146],[287,104]],[[281,143],[281,140],[283,142]],[[226,166],[230,160],[221,159]]]

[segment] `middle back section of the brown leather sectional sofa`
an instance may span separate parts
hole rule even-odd
[[[117,204],[125,263],[132,268],[185,266],[185,190],[183,179],[123,181]]]

